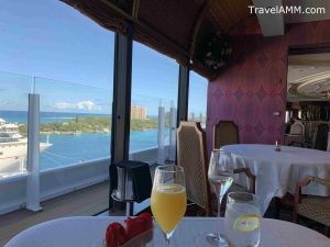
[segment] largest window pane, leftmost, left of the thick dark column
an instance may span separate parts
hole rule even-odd
[[[87,162],[110,156],[114,35],[63,1],[22,3],[1,1],[0,8],[0,119],[11,124],[0,121],[0,179],[9,176],[6,167],[25,168],[28,93],[35,79],[40,198],[50,198],[108,177],[109,160]],[[25,177],[1,181],[0,212],[22,206]]]

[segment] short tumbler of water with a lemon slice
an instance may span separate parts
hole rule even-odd
[[[230,246],[257,247],[261,235],[260,198],[248,192],[228,194],[224,232]]]

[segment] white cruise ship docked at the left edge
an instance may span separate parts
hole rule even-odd
[[[40,151],[52,144],[40,143]],[[18,123],[7,123],[0,117],[0,175],[22,172],[25,170],[28,138],[22,136]]]

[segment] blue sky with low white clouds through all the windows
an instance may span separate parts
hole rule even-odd
[[[58,0],[0,4],[0,110],[25,110],[35,77],[44,111],[109,113],[114,34]],[[132,104],[176,105],[177,79],[174,59],[134,42]],[[205,112],[206,79],[191,72],[190,86],[189,110]]]

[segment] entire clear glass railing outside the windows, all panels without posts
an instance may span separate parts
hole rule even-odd
[[[29,93],[40,94],[40,169],[66,167],[110,157],[110,89],[0,72],[0,175],[24,172],[28,156]],[[175,100],[132,97],[130,153],[169,144]],[[160,116],[160,106],[163,115]],[[158,120],[164,122],[160,135]],[[176,120],[176,112],[173,114]]]

